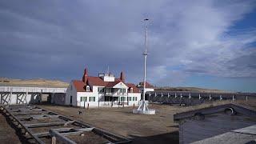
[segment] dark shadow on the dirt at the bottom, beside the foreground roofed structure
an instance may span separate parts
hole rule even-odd
[[[166,134],[158,134],[149,137],[138,137],[136,135],[130,135],[132,142],[139,144],[155,144],[155,143],[178,143],[178,131],[174,131]]]

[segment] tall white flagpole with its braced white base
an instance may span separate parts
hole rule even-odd
[[[154,109],[148,108],[148,103],[145,101],[145,94],[146,94],[146,56],[147,56],[147,22],[149,21],[148,18],[144,19],[145,22],[145,28],[146,28],[146,46],[145,51],[143,53],[144,55],[144,79],[143,79],[143,95],[142,100],[140,101],[140,105],[138,106],[137,110],[133,110],[134,114],[155,114]]]

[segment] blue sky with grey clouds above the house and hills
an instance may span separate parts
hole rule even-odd
[[[254,0],[2,0],[0,77],[70,82],[107,67],[156,86],[256,91]]]

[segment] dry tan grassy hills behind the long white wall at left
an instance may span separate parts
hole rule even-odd
[[[3,78],[0,77],[0,85],[36,85],[36,86],[56,86],[67,87],[69,83],[59,80],[49,80],[43,78],[35,79],[18,79],[18,78]]]

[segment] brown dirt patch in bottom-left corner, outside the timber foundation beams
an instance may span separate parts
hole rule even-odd
[[[15,133],[15,130],[10,127],[9,123],[6,121],[6,117],[0,113],[0,143],[22,143]]]

